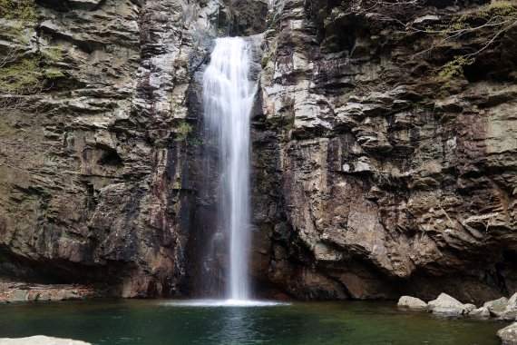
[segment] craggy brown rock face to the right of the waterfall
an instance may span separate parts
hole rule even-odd
[[[480,42],[452,46],[399,25],[447,25],[483,8],[453,3],[391,13],[276,3],[255,123],[265,284],[359,299],[483,300],[517,288],[517,33],[445,82],[434,68]]]

